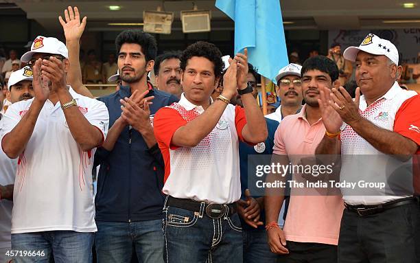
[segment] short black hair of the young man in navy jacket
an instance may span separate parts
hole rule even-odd
[[[151,34],[141,30],[124,30],[115,38],[115,47],[117,54],[124,43],[138,44],[141,47],[146,61],[154,60],[157,54],[156,39]]]

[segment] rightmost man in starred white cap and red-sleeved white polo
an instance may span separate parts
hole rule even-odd
[[[342,87],[322,91],[327,132],[316,153],[341,155],[342,182],[385,186],[341,187],[347,209],[339,262],[420,262],[420,207],[412,176],[417,166],[411,163],[419,154],[420,97],[395,82],[399,55],[390,41],[368,34],[344,56],[355,62],[359,88],[354,101]]]

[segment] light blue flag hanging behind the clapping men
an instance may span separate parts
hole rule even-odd
[[[248,47],[248,61],[275,82],[289,64],[280,1],[217,0],[215,6],[235,21],[235,54]]]

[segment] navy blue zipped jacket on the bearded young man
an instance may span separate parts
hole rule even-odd
[[[121,116],[120,99],[130,97],[130,87],[99,98],[109,113],[109,127]],[[151,89],[154,96],[150,115],[159,108],[178,102],[169,93]],[[164,163],[159,147],[148,148],[141,134],[127,126],[112,151],[98,148],[95,165],[100,166],[95,197],[96,220],[133,222],[162,218]]]

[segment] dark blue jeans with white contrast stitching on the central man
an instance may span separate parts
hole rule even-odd
[[[165,262],[242,262],[242,228],[237,214],[209,218],[204,211],[165,206]]]

